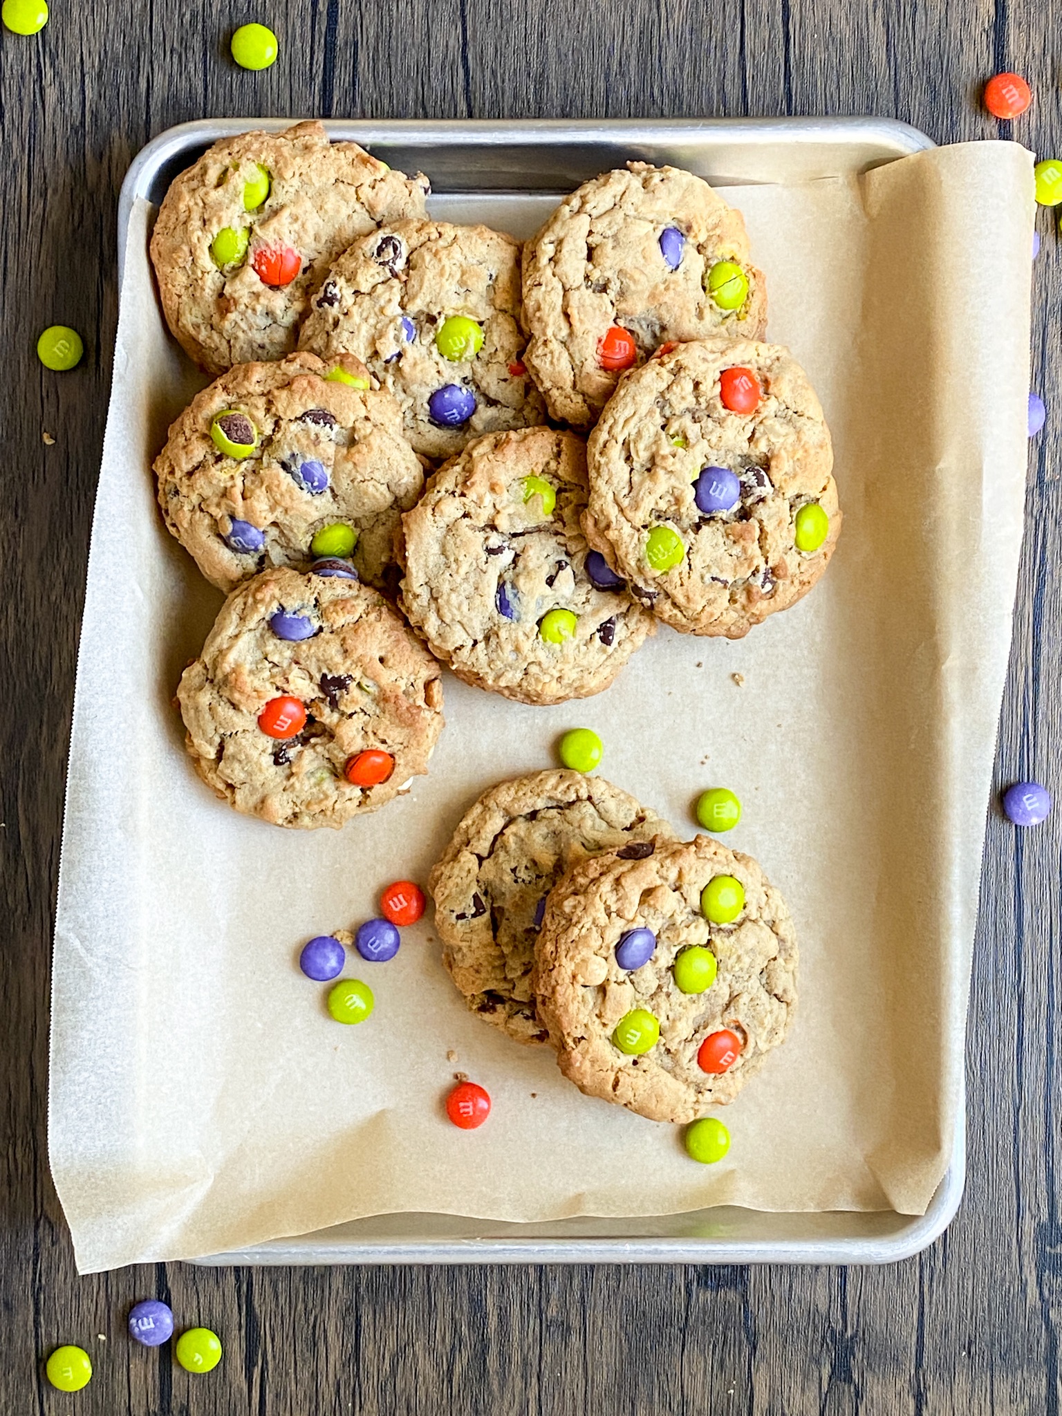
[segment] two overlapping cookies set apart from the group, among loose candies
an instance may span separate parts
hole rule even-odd
[[[600,777],[501,782],[432,871],[469,1008],[551,1042],[589,1096],[658,1121],[725,1104],[786,1037],[797,944],[749,855],[671,827]]]

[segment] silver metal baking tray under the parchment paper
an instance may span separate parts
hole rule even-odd
[[[161,133],[133,161],[119,198],[119,279],[137,198],[161,201],[171,178],[218,137],[278,130],[295,119],[202,119]],[[906,123],[877,118],[660,119],[566,122],[377,122],[337,119],[334,139],[354,139],[404,171],[432,180],[429,208],[460,221],[464,202],[490,198],[527,225],[558,194],[630,159],[670,163],[716,185],[799,183],[862,173],[933,142]],[[767,1214],[738,1206],[640,1219],[501,1223],[456,1215],[394,1214],[275,1239],[204,1264],[321,1263],[891,1263],[932,1243],[959,1208],[966,1178],[964,1099],[952,1163],[925,1215],[892,1211]]]

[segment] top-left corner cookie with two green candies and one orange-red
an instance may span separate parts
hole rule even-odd
[[[320,123],[221,139],[154,224],[166,323],[211,374],[287,354],[329,263],[381,221],[423,215],[426,191]]]

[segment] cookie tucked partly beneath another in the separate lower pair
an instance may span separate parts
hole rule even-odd
[[[626,792],[579,772],[535,772],[484,792],[428,882],[443,963],[469,1008],[518,1042],[545,1042],[531,973],[554,882],[595,851],[643,857],[671,835]]]

